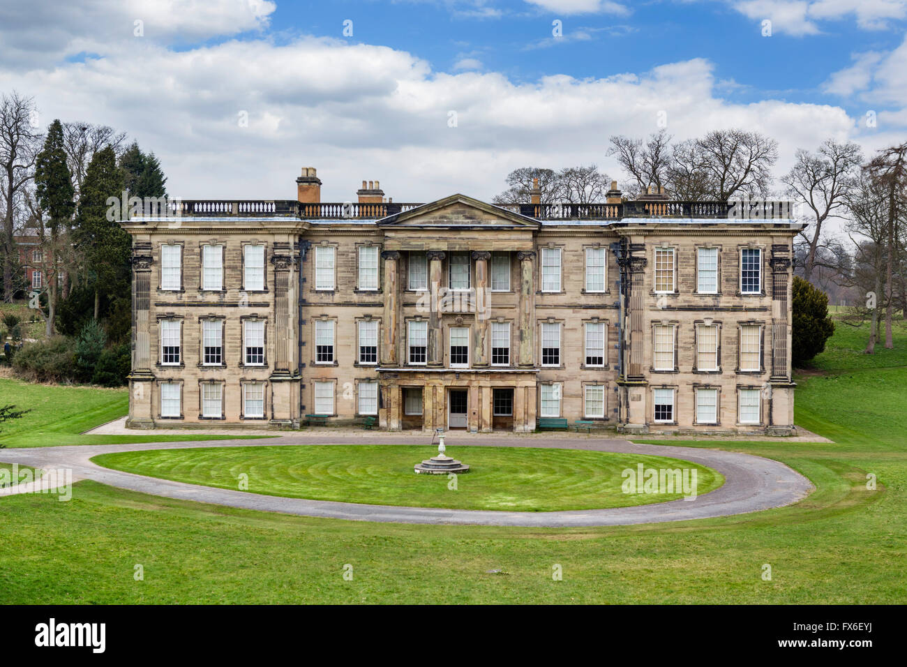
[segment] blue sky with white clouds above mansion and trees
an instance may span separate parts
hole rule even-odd
[[[525,164],[621,179],[608,137],[659,113],[678,140],[773,136],[780,176],[829,137],[907,139],[905,18],[907,0],[33,0],[0,8],[0,90],[44,124],[129,132],[186,198],[291,198],[302,166],[326,201],[363,179],[487,198]]]

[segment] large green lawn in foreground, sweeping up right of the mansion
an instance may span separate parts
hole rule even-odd
[[[671,443],[784,461],[816,486],[797,505],[570,530],[389,525],[81,482],[68,503],[0,499],[0,603],[905,603],[907,335],[868,360],[883,370],[838,336],[816,359],[832,374],[797,378],[796,396],[797,422],[834,444]]]

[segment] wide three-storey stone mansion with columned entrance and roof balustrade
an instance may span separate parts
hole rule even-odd
[[[132,235],[131,427],[794,430],[781,202],[169,201]]]

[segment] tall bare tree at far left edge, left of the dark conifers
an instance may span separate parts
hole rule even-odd
[[[15,218],[22,210],[22,195],[34,177],[34,159],[41,148],[41,133],[36,127],[37,109],[34,98],[13,91],[0,99],[0,183],[4,206],[3,286],[4,299],[14,293],[13,258],[15,257]]]

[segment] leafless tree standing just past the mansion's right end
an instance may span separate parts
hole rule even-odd
[[[847,194],[856,181],[863,153],[853,142],[826,140],[816,152],[798,150],[794,166],[781,179],[789,196],[803,201],[808,209],[808,226],[799,232],[807,249],[803,277],[811,280],[817,252],[824,241],[823,225],[841,217]]]

